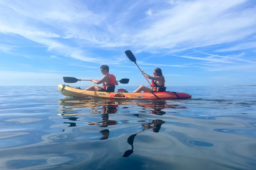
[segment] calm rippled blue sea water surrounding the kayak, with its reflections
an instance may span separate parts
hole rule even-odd
[[[75,99],[57,86],[0,87],[0,169],[256,169],[256,87],[167,90],[193,97]]]

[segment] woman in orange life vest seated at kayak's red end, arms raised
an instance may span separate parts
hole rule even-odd
[[[146,86],[141,85],[138,89],[136,89],[133,92],[165,91],[164,90],[165,80],[164,80],[164,77],[163,77],[161,69],[156,68],[154,70],[154,72],[153,72],[154,77],[151,77],[150,75],[144,73],[143,71],[141,71],[141,74],[145,75],[146,78],[151,79],[151,85],[150,86],[152,87],[152,89],[150,89],[150,88],[148,88]]]

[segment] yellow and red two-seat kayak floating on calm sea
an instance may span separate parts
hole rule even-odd
[[[63,84],[59,84],[59,91],[64,96],[73,97],[95,97],[106,99],[190,99],[191,95],[183,92],[104,92],[104,91],[89,91],[76,89]]]

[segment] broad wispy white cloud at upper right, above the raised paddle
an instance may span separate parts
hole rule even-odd
[[[190,49],[230,43],[256,32],[256,10],[233,7],[246,1],[189,1],[166,10],[149,27],[141,30],[137,44],[147,50],[169,48]],[[239,33],[238,33],[239,32]],[[218,38],[217,38],[218,37]]]

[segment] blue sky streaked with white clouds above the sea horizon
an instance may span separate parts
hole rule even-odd
[[[256,84],[255,0],[0,0],[0,86],[58,86],[62,77],[166,86]],[[91,86],[91,81],[70,86]]]

